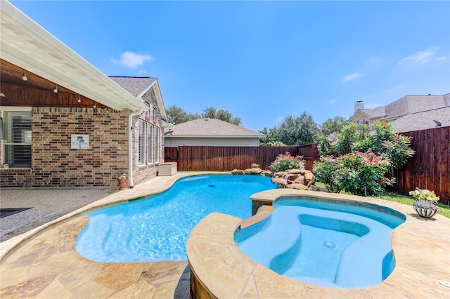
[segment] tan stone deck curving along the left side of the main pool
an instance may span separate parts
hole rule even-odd
[[[0,298],[189,298],[186,261],[97,263],[79,255],[75,241],[87,211],[162,192],[196,174],[152,178],[2,242]]]

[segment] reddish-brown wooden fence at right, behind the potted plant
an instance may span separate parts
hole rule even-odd
[[[449,133],[449,126],[401,133],[413,137],[416,154],[394,172],[394,191],[406,195],[416,187],[433,190],[442,203],[450,203]]]

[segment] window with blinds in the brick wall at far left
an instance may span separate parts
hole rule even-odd
[[[31,112],[4,111],[4,161],[10,168],[31,167]]]

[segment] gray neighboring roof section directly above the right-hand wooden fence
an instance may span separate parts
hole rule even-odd
[[[405,115],[392,121],[394,132],[409,132],[436,128],[435,121],[441,126],[450,126],[450,107],[432,109]]]

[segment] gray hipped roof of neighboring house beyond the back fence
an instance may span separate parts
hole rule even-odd
[[[177,124],[171,131],[165,133],[170,137],[215,137],[215,138],[264,138],[265,135],[256,131],[230,124],[220,119],[194,119],[183,124]]]

